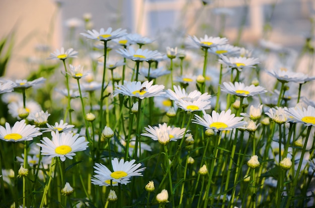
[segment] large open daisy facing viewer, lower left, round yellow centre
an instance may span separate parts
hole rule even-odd
[[[52,139],[44,137],[41,143],[37,143],[42,148],[42,155],[47,155],[49,158],[59,157],[61,161],[66,158],[73,159],[75,152],[84,151],[88,148],[88,143],[85,137],[79,137],[79,134],[60,133],[58,131],[51,132]]]

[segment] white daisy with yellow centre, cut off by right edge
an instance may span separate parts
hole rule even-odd
[[[285,110],[294,123],[303,123],[306,126],[315,126],[315,108],[307,106],[305,108],[289,108]]]

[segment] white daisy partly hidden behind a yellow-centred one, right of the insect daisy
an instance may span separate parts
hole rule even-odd
[[[201,100],[209,100],[211,98],[211,95],[206,93],[201,94],[200,91],[198,90],[194,90],[192,92],[190,92],[189,94],[186,92],[185,88],[181,88],[180,86],[173,86],[174,91],[172,89],[168,89],[166,91],[167,96],[171,99],[171,100],[175,100],[175,101],[180,101],[180,100],[184,100],[184,101],[194,101],[197,99],[201,99]]]

